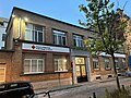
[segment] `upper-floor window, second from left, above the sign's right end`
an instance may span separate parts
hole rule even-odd
[[[67,35],[64,32],[52,30],[52,33],[53,33],[53,44],[55,45],[61,45],[61,46],[67,45]]]

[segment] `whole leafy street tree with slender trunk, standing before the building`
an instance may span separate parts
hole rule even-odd
[[[122,10],[114,10],[114,2],[109,0],[86,0],[87,5],[79,5],[84,13],[86,21],[79,21],[81,25],[94,30],[95,38],[84,40],[87,49],[95,54],[105,52],[112,58],[112,66],[116,76],[117,87],[120,90],[120,83],[116,70],[115,52],[118,52],[126,41],[124,28],[127,19]]]

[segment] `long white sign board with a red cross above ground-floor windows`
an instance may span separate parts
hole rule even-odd
[[[23,50],[35,50],[35,51],[47,51],[47,52],[70,52],[69,48],[45,46],[45,45],[34,45],[34,44],[23,44]]]

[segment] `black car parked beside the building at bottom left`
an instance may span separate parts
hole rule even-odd
[[[29,82],[0,83],[0,98],[27,98],[31,95],[34,95],[34,90]]]

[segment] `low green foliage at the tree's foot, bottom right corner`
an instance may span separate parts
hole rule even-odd
[[[105,98],[131,98],[130,90],[127,89],[114,89],[111,93],[108,89],[105,90]]]

